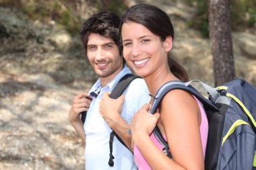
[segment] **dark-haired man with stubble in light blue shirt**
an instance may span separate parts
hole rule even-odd
[[[131,135],[127,134],[133,114],[150,101],[148,89],[143,79],[135,79],[124,92],[125,96],[116,99],[123,103],[121,114],[100,114],[100,99],[109,95],[117,82],[131,73],[125,66],[119,46],[119,17],[115,13],[102,12],[89,17],[83,25],[82,42],[92,69],[99,79],[89,93],[80,93],[73,99],[69,112],[69,121],[86,143],[86,169],[137,169],[133,154],[117,138],[113,142],[114,166],[108,165],[110,132],[115,130],[118,136],[131,150]],[[108,92],[108,93],[107,93]],[[125,98],[125,100],[124,100]],[[85,124],[79,118],[87,111]]]

